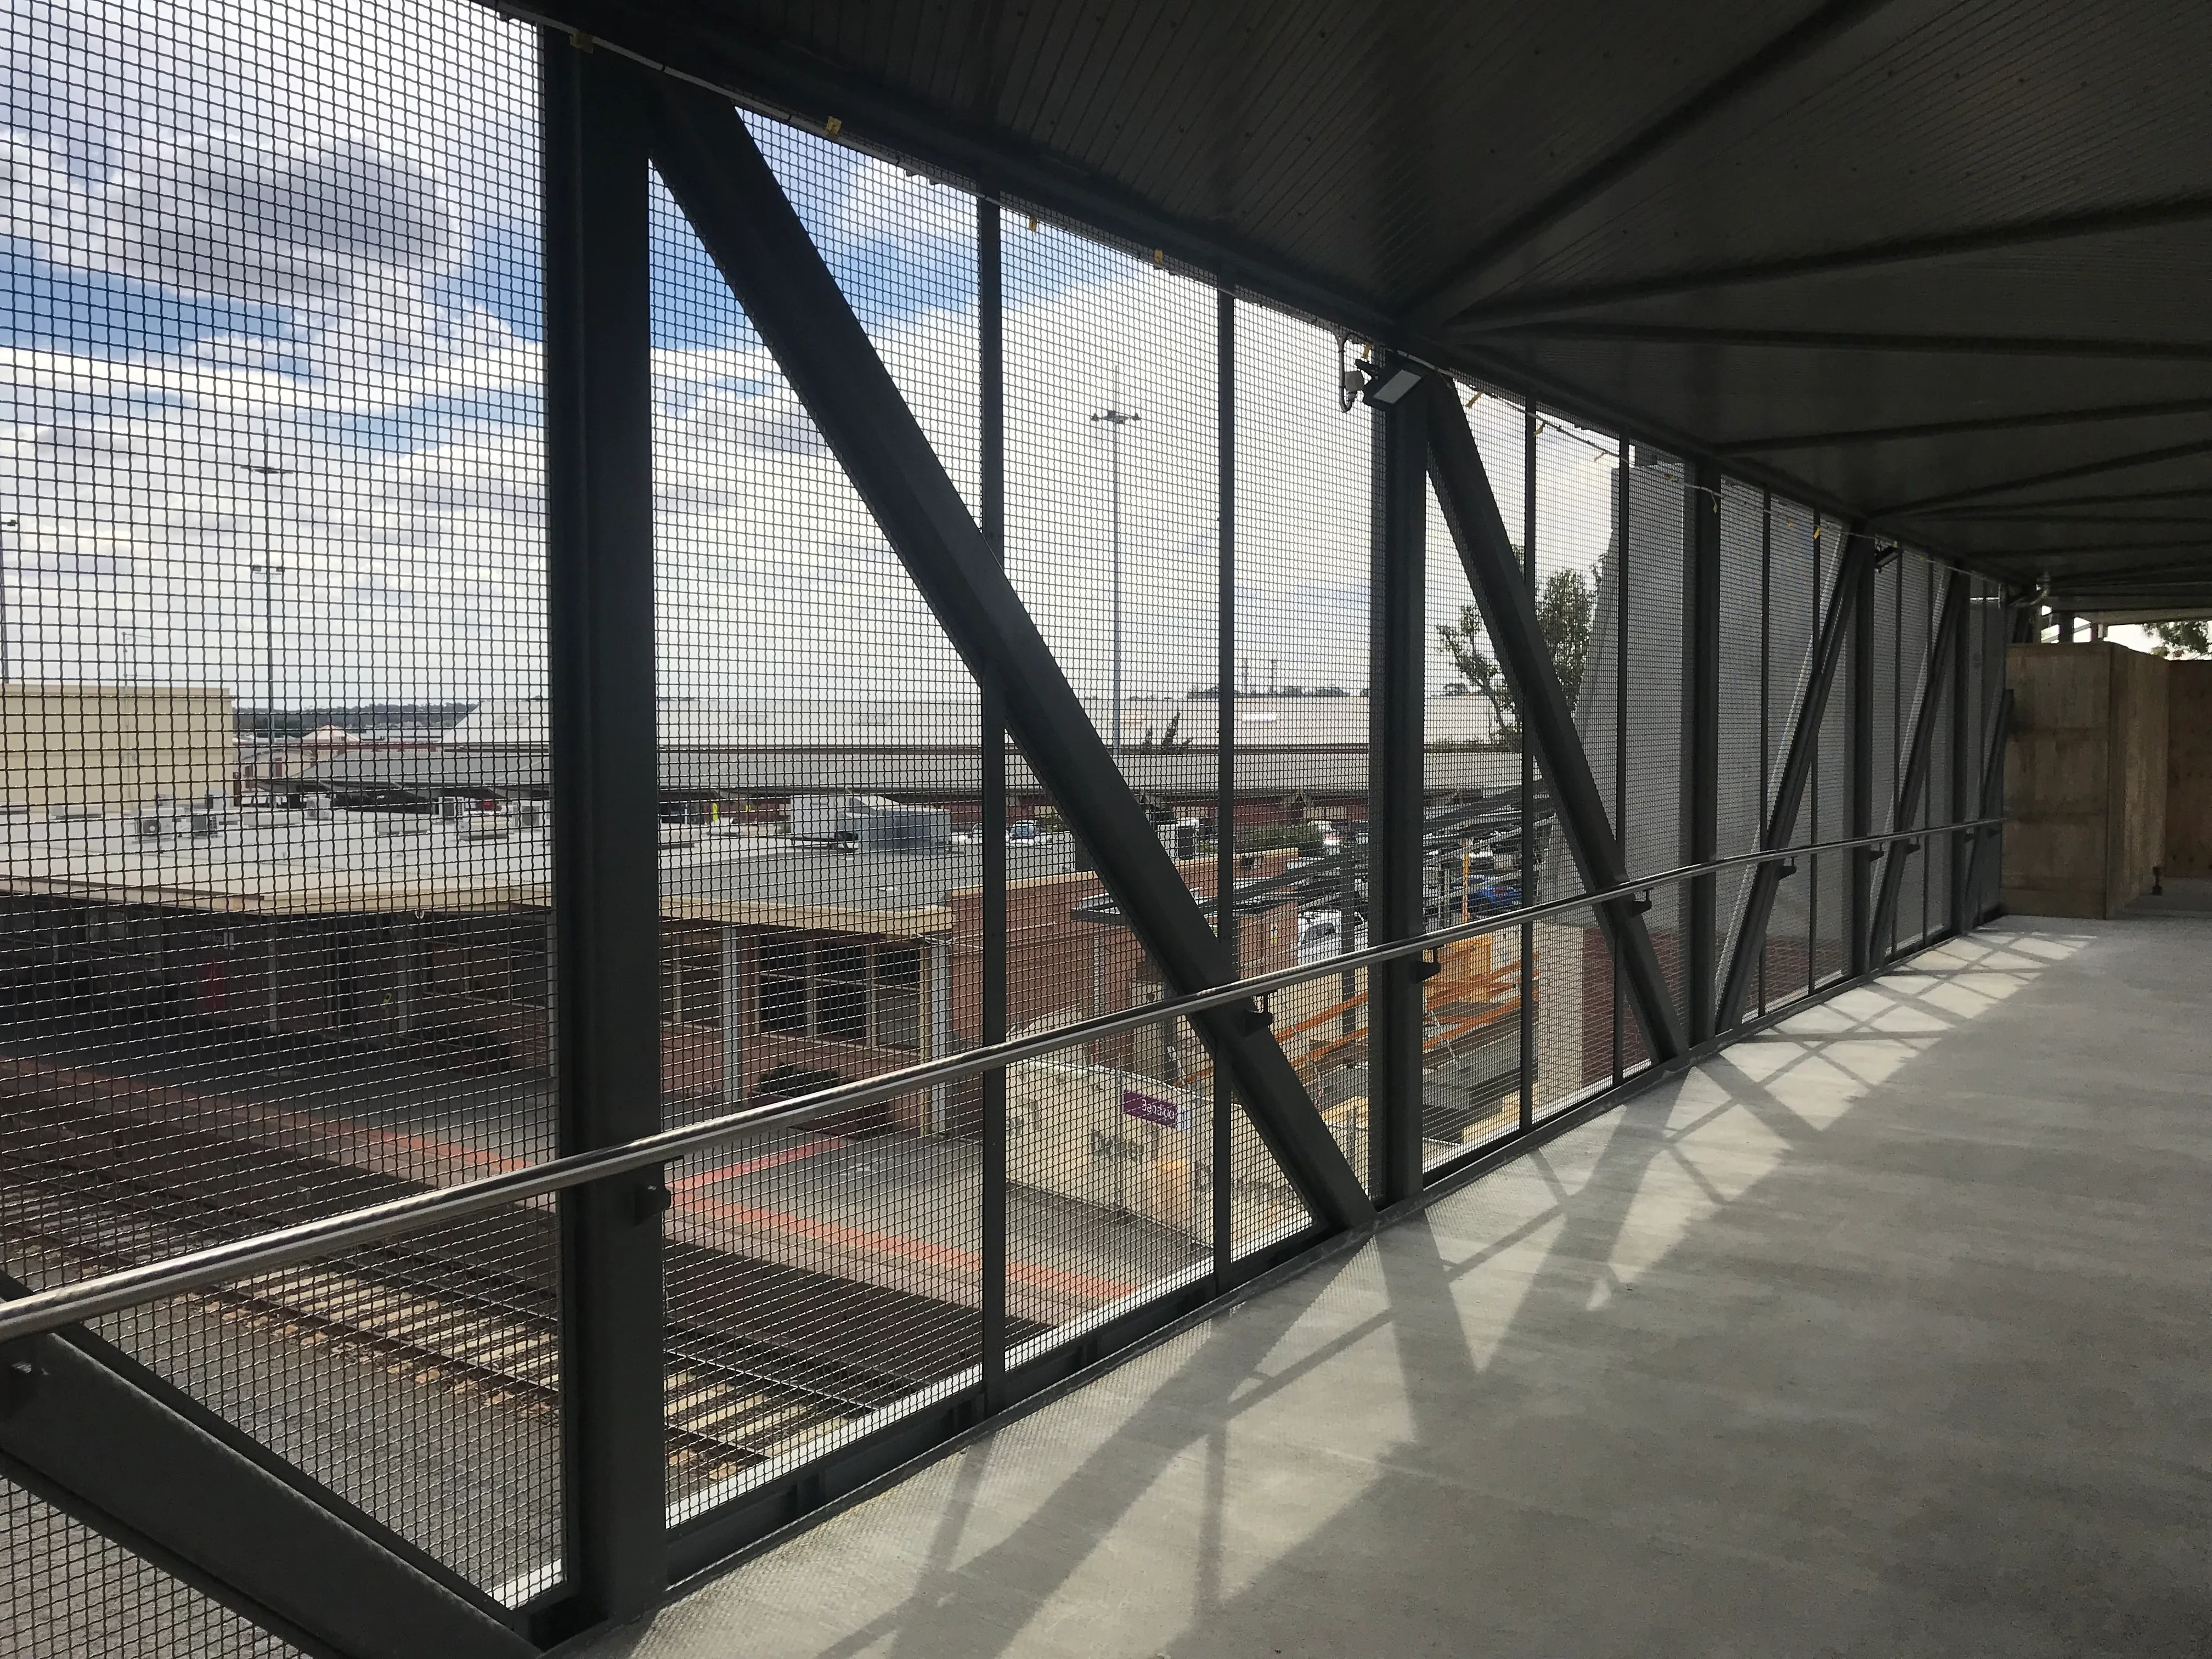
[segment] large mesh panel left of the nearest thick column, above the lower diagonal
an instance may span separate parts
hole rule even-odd
[[[55,1285],[553,1152],[538,86],[458,0],[0,31],[0,1265]],[[529,1347],[551,1254],[495,1310],[487,1232],[330,1272],[111,1336],[544,1566],[557,1411],[453,1345]]]

